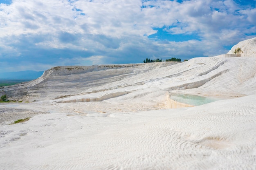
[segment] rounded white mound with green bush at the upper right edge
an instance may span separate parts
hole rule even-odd
[[[256,37],[239,42],[227,54],[238,54],[241,57],[256,57]]]

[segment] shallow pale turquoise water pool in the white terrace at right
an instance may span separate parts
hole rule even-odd
[[[170,99],[175,100],[176,102],[181,102],[193,106],[200,106],[202,104],[207,104],[211,102],[215,102],[217,100],[221,100],[213,97],[202,97],[198,95],[187,95],[187,94],[177,94],[171,93]]]

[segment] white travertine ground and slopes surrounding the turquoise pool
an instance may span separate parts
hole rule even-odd
[[[0,104],[0,170],[255,170],[255,68],[256,57],[63,66],[1,88],[23,102]],[[184,107],[173,94],[221,100]]]

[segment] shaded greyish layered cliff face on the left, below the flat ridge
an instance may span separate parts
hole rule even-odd
[[[56,66],[30,82],[0,88],[0,95],[11,100],[37,101],[58,96],[74,95],[106,84],[121,81],[124,77],[165,67],[177,62],[150,64],[110,64],[94,66]]]

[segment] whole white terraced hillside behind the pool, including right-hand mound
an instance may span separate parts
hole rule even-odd
[[[55,101],[63,97],[70,98],[55,102],[102,101],[126,93],[132,95],[135,94],[133,91],[144,89],[150,89],[150,94],[153,91],[182,91],[188,94],[193,91],[202,95],[216,92],[212,95],[226,93],[225,96],[230,97],[243,96],[256,93],[256,73],[255,69],[251,69],[256,67],[255,60],[256,38],[252,38],[239,42],[225,55],[193,58],[182,63],[56,66],[46,70],[38,79],[0,88],[0,95],[29,102]],[[212,84],[217,84],[218,89]],[[189,92],[183,92],[187,90]],[[94,93],[97,93],[96,97],[87,96]],[[136,97],[137,94],[133,98]]]

